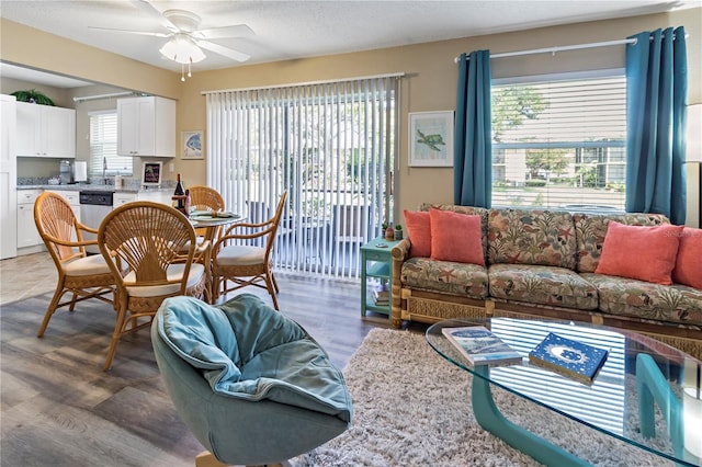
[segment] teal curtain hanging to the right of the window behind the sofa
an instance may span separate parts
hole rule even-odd
[[[675,38],[673,38],[675,37]],[[684,30],[643,32],[626,46],[626,210],[684,224]]]

